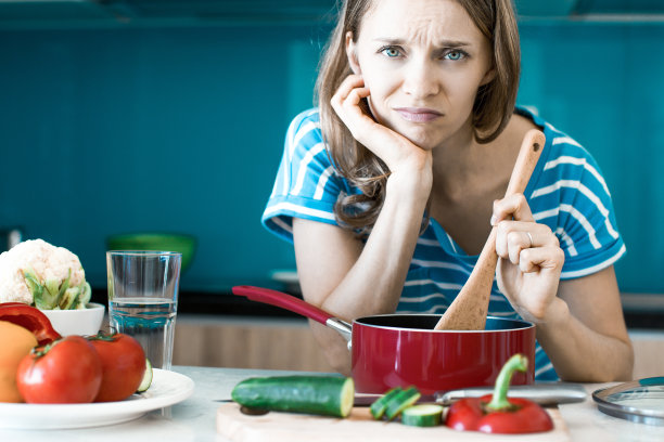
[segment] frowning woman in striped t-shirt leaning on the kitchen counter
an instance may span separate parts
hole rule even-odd
[[[264,223],[294,242],[305,300],[346,320],[442,313],[497,224],[489,314],[537,323],[536,379],[628,379],[609,191],[583,147],[514,107],[519,73],[509,0],[344,1]],[[539,162],[502,198],[533,128]],[[347,373],[345,342],[312,329]]]

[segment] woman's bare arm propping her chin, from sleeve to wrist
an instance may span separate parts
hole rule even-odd
[[[431,190],[427,177],[394,174],[388,179],[381,213],[363,247],[346,243],[334,246],[332,256],[321,256],[312,246],[316,232],[330,226],[294,223],[297,268],[305,300],[333,315],[354,318],[393,313],[401,296]],[[334,239],[333,239],[334,240]],[[349,373],[346,342],[333,330],[312,324],[316,339],[336,370]]]

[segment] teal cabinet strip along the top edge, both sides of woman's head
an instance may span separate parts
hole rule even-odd
[[[657,0],[515,0],[522,23],[662,21]],[[0,1],[0,28],[113,28],[329,24],[334,0],[49,0]]]

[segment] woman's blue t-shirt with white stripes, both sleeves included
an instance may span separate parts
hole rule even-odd
[[[617,232],[611,195],[600,169],[576,141],[524,108],[547,138],[546,145],[524,192],[535,220],[547,224],[565,253],[561,280],[592,274],[613,264],[625,245]],[[322,142],[318,109],[299,114],[289,127],[285,148],[272,194],[263,214],[264,225],[292,242],[292,218],[339,225],[334,205],[340,196],[359,190],[341,177]],[[431,219],[418,238],[399,313],[443,313],[470,275],[477,256],[461,247]],[[489,315],[519,317],[496,281]],[[558,375],[539,343],[535,378],[556,380]]]

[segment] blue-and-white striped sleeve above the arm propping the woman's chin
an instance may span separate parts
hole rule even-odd
[[[263,213],[264,226],[293,240],[293,217],[336,224],[334,205],[344,190],[322,142],[318,110],[299,114],[285,136],[274,187]]]

